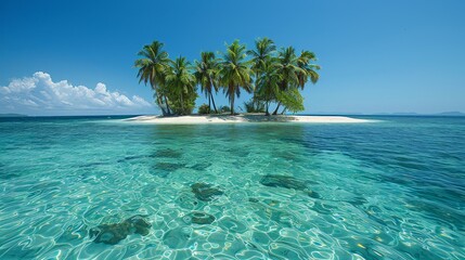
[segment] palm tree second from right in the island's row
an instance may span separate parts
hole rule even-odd
[[[293,47],[283,48],[277,53],[277,73],[281,75],[280,91],[286,91],[292,87],[296,87],[299,83],[298,75],[303,72],[299,68],[298,57],[296,50]],[[281,106],[281,102],[277,102],[276,109],[273,115],[277,114],[277,109]]]

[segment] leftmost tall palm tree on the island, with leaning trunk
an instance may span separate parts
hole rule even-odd
[[[169,105],[166,95],[163,95],[160,91],[160,84],[165,83],[165,74],[168,67],[168,53],[163,50],[163,43],[154,41],[152,44],[144,46],[142,51],[138,53],[141,58],[137,60],[134,66],[139,68],[138,78],[139,83],[144,81],[152,86],[155,91],[155,100],[158,107],[162,109],[163,115],[169,115]],[[165,99],[166,110],[163,106],[163,100]]]

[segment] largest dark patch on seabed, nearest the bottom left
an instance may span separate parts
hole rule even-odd
[[[95,236],[93,240],[95,243],[116,245],[131,234],[145,236],[150,233],[151,227],[152,224],[144,217],[135,214],[120,223],[101,224],[93,227],[89,231],[89,236],[91,238]]]

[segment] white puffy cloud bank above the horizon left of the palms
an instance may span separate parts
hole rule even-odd
[[[28,115],[115,115],[154,110],[143,98],[109,91],[102,82],[94,89],[73,86],[67,80],[54,82],[42,72],[0,87],[0,113]]]

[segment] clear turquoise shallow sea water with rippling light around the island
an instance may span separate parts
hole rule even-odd
[[[0,119],[0,259],[464,259],[465,118],[373,119]]]

